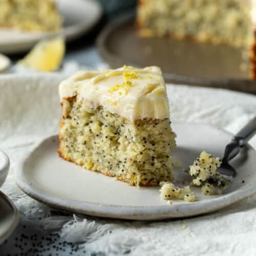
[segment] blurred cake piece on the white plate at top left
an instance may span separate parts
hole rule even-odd
[[[25,31],[57,31],[62,19],[53,0],[1,0],[0,27]]]

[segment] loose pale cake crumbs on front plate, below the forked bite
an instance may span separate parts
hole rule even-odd
[[[178,187],[175,186],[172,182],[160,182],[161,189],[160,191],[160,198],[162,200],[169,200],[172,198],[181,199],[187,202],[195,202],[196,197],[191,192],[189,186],[185,187]]]

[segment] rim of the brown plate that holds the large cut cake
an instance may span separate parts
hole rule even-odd
[[[135,14],[130,13],[125,16],[118,18],[106,25],[102,31],[99,33],[96,45],[99,49],[100,55],[102,58],[111,66],[111,68],[116,68],[116,65],[113,65],[114,62],[118,63],[126,63],[126,65],[134,66],[141,68],[136,63],[132,61],[126,61],[124,58],[115,55],[108,51],[106,47],[106,41],[110,34],[114,33],[115,29],[119,26],[122,26],[126,23],[134,22]],[[229,89],[232,91],[240,91],[246,93],[256,94],[256,80],[251,79],[236,79],[236,78],[216,78],[216,79],[207,79],[207,78],[197,78],[197,77],[189,77],[183,76],[173,73],[163,73],[163,77],[166,82],[176,83],[176,84],[187,84],[193,85],[197,87],[215,87],[215,88],[223,88]]]

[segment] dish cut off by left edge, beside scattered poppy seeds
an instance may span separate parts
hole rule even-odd
[[[8,197],[0,191],[0,245],[11,235],[19,222],[19,214]]]

